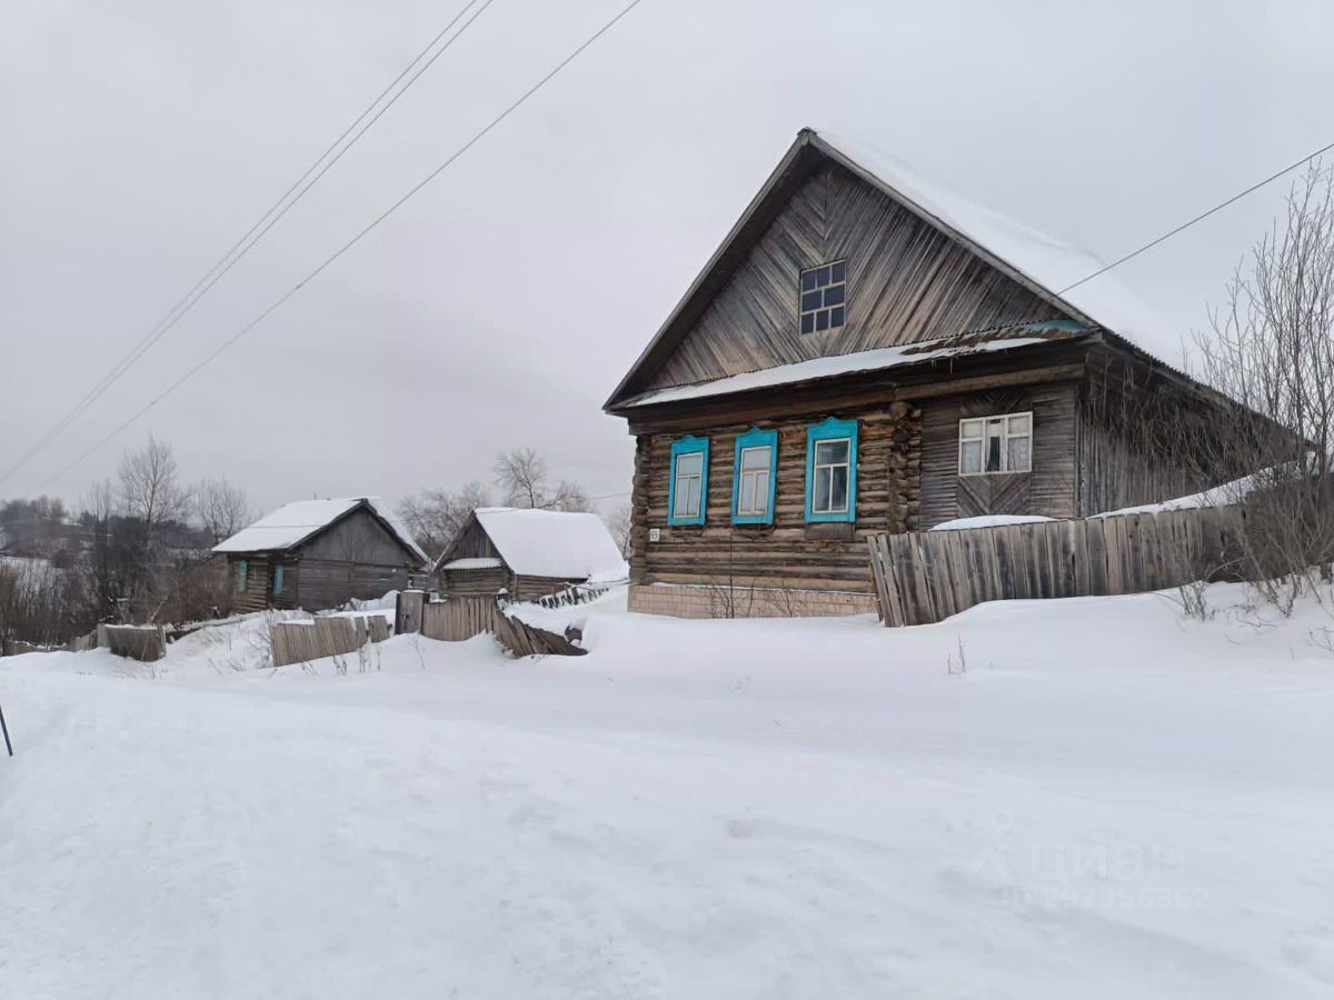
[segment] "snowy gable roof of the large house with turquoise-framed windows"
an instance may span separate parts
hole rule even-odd
[[[1165,351],[1175,343],[1170,329],[1114,276],[1099,275],[1070,288],[1105,267],[1093,253],[932,185],[895,157],[871,147],[803,128],[667,321],[616,385],[604,404],[606,409],[624,405],[643,376],[667,360],[796,188],[827,163],[860,177],[1082,325],[1102,328],[1150,356],[1155,348]],[[943,331],[956,332],[960,331]]]

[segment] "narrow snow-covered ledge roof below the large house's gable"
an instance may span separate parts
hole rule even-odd
[[[731,392],[763,389],[771,385],[788,385],[799,381],[810,381],[811,379],[827,379],[834,375],[875,372],[884,368],[922,364],[923,361],[934,361],[942,357],[963,357],[975,353],[988,353],[991,351],[1009,351],[1017,347],[1029,347],[1031,344],[1047,344],[1051,339],[1053,337],[998,336],[984,340],[966,337],[922,340],[914,344],[876,348],[875,351],[858,351],[851,355],[812,357],[808,361],[780,364],[776,368],[760,368],[758,372],[728,375],[723,379],[714,379],[712,381],[696,383],[694,385],[674,385],[666,389],[650,389],[648,392],[632,396],[620,405],[644,407],[651,403],[675,403],[687,399],[700,399],[703,396],[724,396]]]

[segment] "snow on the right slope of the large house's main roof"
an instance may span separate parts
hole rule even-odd
[[[815,135],[834,153],[848,160],[862,173],[870,175],[882,187],[898,192],[928,216],[1142,351],[1162,359],[1178,349],[1179,332],[1154,316],[1115,275],[1099,275],[1078,288],[1062,292],[1067,285],[1106,267],[1105,260],[936,187],[899,159],[872,145],[828,132]]]

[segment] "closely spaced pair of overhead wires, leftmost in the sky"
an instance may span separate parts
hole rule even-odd
[[[360,140],[362,136],[366,135],[366,132],[370,131],[370,128],[375,125],[375,123],[379,121],[380,117],[390,108],[392,108],[395,103],[398,103],[399,97],[407,93],[408,88],[411,88],[412,84],[416,83],[418,79],[427,69],[430,69],[431,65],[442,55],[444,55],[444,52],[455,41],[459,40],[459,37],[468,29],[468,27],[478,17],[480,17],[482,13],[495,0],[484,0],[482,7],[478,8],[478,11],[467,20],[467,23],[462,28],[459,28],[459,31],[448,41],[446,41],[444,45],[442,45],[431,56],[430,60],[427,60],[415,73],[412,73],[411,79],[408,79],[408,81],[403,84],[403,87],[388,100],[388,103],[386,103],[384,107],[382,107],[378,112],[375,112],[375,115],[367,121],[366,120],[367,116],[371,115],[372,111],[375,111],[375,108],[380,104],[380,101],[383,101],[384,97],[391,91],[394,91],[395,87],[398,87],[398,84],[403,80],[404,76],[412,72],[412,68],[418,65],[418,63],[420,63],[422,59],[424,59],[426,55],[436,47],[440,39],[443,39],[450,32],[450,29],[459,23],[459,20],[468,12],[470,8],[472,8],[472,5],[476,1],[478,0],[468,0],[468,3],[459,9],[459,12],[450,20],[450,23],[446,24],[444,28],[442,28],[434,39],[431,39],[430,44],[427,44],[427,47],[422,49],[422,52],[419,52],[416,57],[414,57],[399,72],[399,75],[394,77],[394,80],[390,81],[388,87],[380,91],[380,93],[375,97],[375,100],[372,100],[367,105],[366,111],[358,115],[356,119],[352,120],[352,124],[350,124],[346,129],[343,129],[343,133],[339,135],[339,137],[335,139],[334,143],[323,153],[320,153],[320,156],[315,160],[315,163],[312,163],[305,169],[305,172],[301,173],[301,176],[297,177],[296,181],[293,181],[292,185],[283,192],[281,197],[279,197],[277,201],[269,205],[268,211],[265,211],[255,221],[255,224],[251,225],[251,228],[247,229],[245,233],[236,243],[233,243],[231,248],[228,248],[228,251],[221,257],[219,257],[219,260],[207,272],[204,272],[203,277],[200,277],[193,284],[193,287],[191,287],[191,289],[185,292],[185,295],[181,296],[161,319],[157,320],[156,324],[153,324],[153,327],[148,331],[148,333],[140,337],[139,341],[115,365],[112,365],[112,368],[105,375],[103,375],[101,379],[99,379],[97,383],[95,383],[93,387],[88,389],[88,392],[85,392],[84,396],[53,427],[51,427],[40,439],[37,439],[37,441],[27,452],[24,452],[13,465],[11,465],[3,475],[0,475],[0,483],[4,483],[15,472],[23,468],[39,451],[41,451],[41,448],[44,448],[47,444],[55,440],[67,427],[69,427],[69,424],[72,424],[75,420],[79,419],[79,416],[87,412],[87,409],[93,403],[96,403],[107,392],[107,389],[109,389],[121,376],[124,376],[131,368],[133,368],[133,365],[139,361],[139,359],[141,359],[145,353],[148,353],[148,351],[151,351],[159,340],[167,336],[167,333],[169,333],[176,327],[176,324],[181,319],[184,319],[184,316],[192,308],[195,308],[199,300],[203,299],[205,295],[208,295],[209,289],[212,289],[212,287],[216,285],[237,263],[240,263],[241,257],[249,253],[251,248],[255,247],[255,244],[259,243],[261,239],[264,239],[268,231],[272,229],[283,219],[283,216],[285,216],[305,196],[305,193],[312,187],[315,187],[315,184],[317,184],[319,180],[325,173],[328,173],[328,171],[339,160],[343,159],[343,156],[348,152],[348,149],[356,145],[358,140]],[[352,133],[352,131],[356,129],[356,127],[363,121],[366,121],[366,124],[362,125],[360,131],[358,131],[356,135],[354,135],[351,140],[348,140],[347,144],[343,145],[343,140],[346,140]],[[343,147],[342,149],[339,149],[340,145]],[[335,149],[338,149],[338,153],[332,159],[328,159]],[[325,163],[325,160],[328,160],[328,163]],[[320,164],[324,165],[320,167]],[[295,197],[293,192],[296,192]],[[237,249],[240,252],[237,252]]]

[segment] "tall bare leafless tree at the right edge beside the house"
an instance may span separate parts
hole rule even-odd
[[[1293,185],[1211,327],[1197,337],[1205,380],[1261,419],[1227,417],[1210,461],[1249,473],[1222,499],[1245,504],[1249,572],[1289,611],[1334,563],[1334,171]]]

